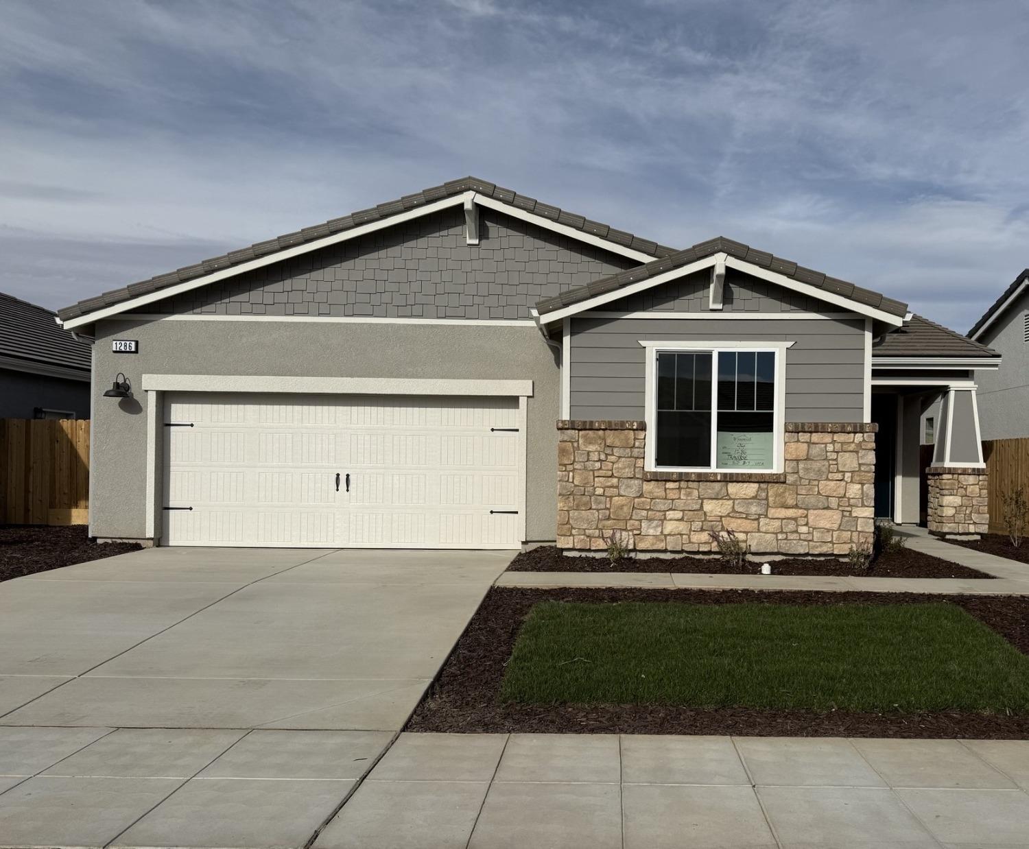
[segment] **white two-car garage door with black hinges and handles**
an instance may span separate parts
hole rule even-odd
[[[519,399],[169,393],[166,545],[510,549]]]

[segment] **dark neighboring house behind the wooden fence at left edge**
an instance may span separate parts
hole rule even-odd
[[[0,292],[0,419],[88,419],[90,346]]]

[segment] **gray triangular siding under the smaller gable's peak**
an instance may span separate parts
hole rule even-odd
[[[673,311],[677,313],[706,312],[710,304],[711,270],[694,274],[645,289],[617,302],[626,312]],[[601,309],[614,309],[603,307]],[[768,283],[736,269],[725,271],[722,312],[743,313],[819,313],[832,312],[831,305],[791,289]],[[836,312],[842,312],[836,310]]]

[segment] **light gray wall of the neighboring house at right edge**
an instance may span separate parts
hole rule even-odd
[[[1003,357],[996,372],[979,372],[979,417],[984,439],[1029,436],[1029,343],[1025,314],[1029,291],[991,324],[977,341]]]

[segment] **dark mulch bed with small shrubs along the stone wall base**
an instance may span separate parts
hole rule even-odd
[[[837,558],[788,558],[770,560],[777,575],[859,575],[863,577],[982,577],[994,575],[959,566],[949,560],[911,549],[882,552],[867,571],[858,572]],[[568,557],[554,545],[522,552],[507,567],[511,572],[688,572],[703,575],[758,574],[760,563],[748,562],[742,569],[717,557],[676,558],[624,557],[611,563],[606,557]]]

